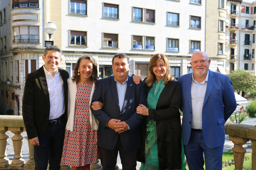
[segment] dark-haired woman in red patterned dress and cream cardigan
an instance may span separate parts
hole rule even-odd
[[[78,58],[73,78],[68,80],[68,120],[62,154],[62,164],[72,170],[90,170],[97,163],[99,151],[97,135],[99,122],[90,110],[91,98],[98,82],[97,63],[88,54]],[[99,110],[101,102],[93,102],[92,108]]]

